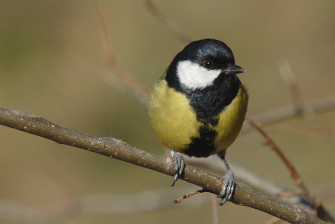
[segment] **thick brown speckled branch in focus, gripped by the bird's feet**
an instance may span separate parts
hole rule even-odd
[[[97,137],[71,130],[27,112],[0,108],[0,124],[170,176],[174,174],[173,161],[170,158],[136,149],[118,139]],[[181,179],[216,194],[221,191],[223,183],[221,178],[190,166],[185,167],[185,173]],[[299,207],[282,203],[241,185],[236,185],[231,201],[266,212],[291,224],[326,224]]]

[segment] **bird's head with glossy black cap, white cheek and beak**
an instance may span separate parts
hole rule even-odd
[[[166,74],[170,87],[176,90],[203,89],[220,74],[237,74],[245,70],[235,65],[230,48],[214,39],[191,42],[172,60]]]

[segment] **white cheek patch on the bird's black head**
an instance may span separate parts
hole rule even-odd
[[[179,61],[177,64],[177,76],[180,83],[192,90],[211,86],[220,73],[221,69],[207,70],[190,60]]]

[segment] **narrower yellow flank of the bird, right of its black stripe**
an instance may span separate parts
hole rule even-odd
[[[219,122],[215,126],[217,136],[214,143],[217,151],[227,149],[240,133],[248,107],[248,93],[240,84],[237,96],[219,115]]]

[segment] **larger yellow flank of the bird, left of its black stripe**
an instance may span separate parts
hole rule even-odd
[[[149,117],[158,139],[169,149],[182,152],[199,137],[201,122],[182,93],[169,88],[164,79],[155,85],[149,106]]]

